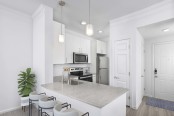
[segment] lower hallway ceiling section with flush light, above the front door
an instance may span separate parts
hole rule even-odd
[[[164,32],[164,29],[169,29],[169,31]],[[174,19],[169,19],[162,22],[140,27],[139,31],[144,39],[174,35]]]

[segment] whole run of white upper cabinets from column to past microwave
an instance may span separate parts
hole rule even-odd
[[[88,54],[88,63],[91,63],[90,40],[76,32],[66,31],[62,25],[65,42],[59,42],[61,24],[54,21],[53,64],[73,63],[73,52]]]

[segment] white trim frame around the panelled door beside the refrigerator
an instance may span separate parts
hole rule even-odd
[[[132,79],[131,79],[131,70],[130,70],[130,67],[131,67],[131,39],[130,38],[126,38],[126,39],[118,39],[118,40],[115,40],[114,41],[114,44],[115,42],[118,42],[118,41],[123,41],[123,40],[129,40],[129,72],[130,72],[130,75],[129,75],[129,96],[130,96],[130,99],[129,99],[129,106],[132,107]],[[115,60],[115,46],[114,46],[114,60]],[[115,66],[114,68],[115,69]],[[113,71],[114,72],[114,71]],[[115,76],[115,74],[113,75]],[[113,79],[114,80],[114,79]],[[126,99],[127,100],[127,99]]]

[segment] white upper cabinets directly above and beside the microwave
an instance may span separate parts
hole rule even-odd
[[[66,63],[73,63],[73,52],[88,54],[88,63],[91,62],[90,40],[72,33],[66,33]]]

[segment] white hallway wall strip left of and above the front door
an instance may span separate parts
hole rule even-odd
[[[153,52],[152,47],[155,43],[174,41],[174,35],[145,39],[145,95],[154,96],[154,77],[153,77]]]

